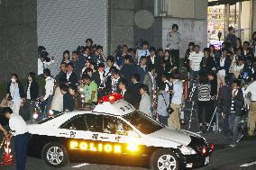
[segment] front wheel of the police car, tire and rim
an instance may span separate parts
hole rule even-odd
[[[158,150],[151,156],[153,170],[179,170],[178,157],[170,150]]]

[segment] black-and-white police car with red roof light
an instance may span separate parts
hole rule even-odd
[[[28,128],[28,156],[54,167],[87,162],[178,170],[208,165],[214,150],[201,136],[165,127],[117,94],[92,110],[59,113]]]

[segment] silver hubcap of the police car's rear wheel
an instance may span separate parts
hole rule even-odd
[[[59,147],[51,147],[46,154],[47,160],[52,165],[59,165],[64,158],[64,153]]]

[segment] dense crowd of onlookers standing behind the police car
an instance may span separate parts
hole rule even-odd
[[[96,103],[106,94],[119,93],[139,111],[180,130],[184,79],[180,77],[180,67],[186,67],[190,90],[197,82],[200,130],[205,131],[210,126],[217,105],[226,120],[224,135],[232,135],[234,146],[240,138],[237,122],[244,105],[243,94],[251,94],[249,134],[253,135],[255,129],[256,32],[251,42],[243,43],[236,38],[232,27],[229,32],[220,50],[215,50],[213,45],[201,50],[199,45],[190,42],[184,63],[180,63],[179,58],[177,24],[173,24],[168,33],[166,49],[149,47],[149,43],[143,41],[138,49],[123,45],[113,56],[107,56],[101,45],[94,45],[93,40],[87,39],[85,47],[63,52],[59,74],[55,77],[47,68],[50,58],[40,56],[38,69],[45,79],[44,95],[40,96],[36,74],[31,72],[25,88],[13,74],[6,97],[13,101],[16,114],[23,102],[28,101],[32,115],[38,98],[45,108],[43,112],[58,113]],[[244,84],[251,85],[242,94]]]

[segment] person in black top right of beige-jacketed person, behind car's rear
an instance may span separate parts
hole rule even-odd
[[[63,111],[72,112],[75,110],[75,102],[71,94],[69,94],[68,85],[59,85],[60,92],[63,94]]]

